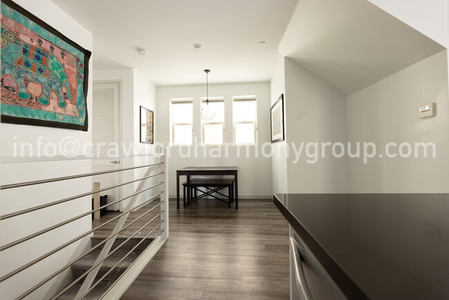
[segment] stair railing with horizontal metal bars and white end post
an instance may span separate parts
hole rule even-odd
[[[33,181],[28,181],[28,182],[13,183],[13,184],[9,184],[9,185],[1,185],[0,190],[19,189],[19,188],[23,188],[23,187],[29,187],[32,185],[44,185],[48,182],[61,182],[64,180],[73,180],[73,179],[77,179],[77,178],[84,178],[84,177],[96,176],[96,175],[101,175],[101,174],[109,174],[109,173],[114,173],[114,172],[123,172],[123,171],[128,171],[128,170],[146,168],[146,172],[145,172],[144,176],[142,176],[141,178],[137,178],[135,180],[121,182],[119,184],[112,185],[110,187],[104,187],[101,189],[94,189],[93,191],[88,191],[86,193],[77,194],[75,196],[62,198],[62,199],[59,199],[56,201],[52,201],[50,203],[36,205],[34,207],[29,207],[26,209],[19,209],[17,212],[11,212],[8,214],[1,215],[0,221],[4,221],[4,220],[10,219],[10,218],[17,218],[19,216],[23,216],[24,214],[36,212],[40,209],[47,209],[49,207],[53,207],[53,206],[59,205],[61,203],[69,203],[70,201],[75,200],[75,199],[94,195],[101,191],[106,191],[108,189],[113,189],[116,187],[122,187],[124,185],[129,185],[134,182],[139,182],[137,189],[135,189],[135,191],[128,196],[120,198],[119,200],[115,200],[112,203],[107,203],[106,205],[102,205],[95,209],[91,209],[88,212],[84,212],[83,214],[79,214],[78,216],[75,216],[73,218],[68,218],[65,221],[62,221],[60,223],[57,223],[57,224],[47,227],[45,229],[41,229],[32,234],[28,234],[27,236],[24,236],[23,238],[18,238],[15,241],[7,243],[6,245],[1,245],[0,253],[5,250],[8,250],[8,249],[14,249],[14,247],[16,247],[17,245],[19,245],[23,242],[29,241],[32,238],[36,238],[37,236],[41,236],[42,234],[51,232],[52,230],[58,229],[59,227],[62,227],[69,223],[72,223],[73,221],[77,221],[80,218],[84,218],[88,215],[91,215],[94,212],[99,212],[100,209],[104,209],[111,205],[115,205],[117,203],[122,203],[122,201],[124,201],[126,199],[130,199],[128,201],[128,205],[126,205],[124,207],[124,209],[122,209],[122,212],[120,214],[118,214],[117,216],[111,218],[111,220],[109,220],[105,223],[102,223],[101,225],[95,227],[94,229],[90,229],[90,230],[84,232],[83,234],[80,234],[79,236],[71,239],[70,241],[67,241],[64,244],[59,245],[58,247],[55,247],[55,249],[53,249],[49,252],[46,252],[46,254],[39,256],[37,259],[33,259],[32,261],[29,261],[28,263],[21,265],[19,268],[16,268],[15,270],[8,272],[7,274],[0,274],[0,284],[7,283],[8,279],[12,279],[12,278],[14,278],[14,276],[17,276],[17,274],[19,274],[21,272],[25,272],[31,266],[36,265],[37,263],[41,262],[44,259],[47,259],[47,258],[51,259],[52,255],[57,254],[57,252],[59,252],[60,250],[63,250],[64,248],[68,247],[69,245],[72,245],[73,243],[75,243],[77,241],[82,240],[83,238],[90,238],[90,236],[93,236],[93,234],[98,229],[101,229],[109,224],[112,225],[112,222],[117,221],[112,233],[108,237],[106,237],[104,239],[104,241],[98,243],[94,247],[91,247],[89,250],[87,250],[83,254],[75,257],[74,259],[68,259],[67,260],[68,263],[66,263],[64,265],[64,267],[59,268],[59,270],[55,270],[55,272],[50,274],[50,276],[46,276],[45,278],[39,279],[39,282],[36,283],[35,285],[32,285],[31,288],[27,288],[26,290],[19,291],[21,294],[19,294],[15,299],[23,299],[25,297],[32,297],[33,292],[35,292],[39,288],[44,287],[44,285],[49,285],[50,281],[52,281],[53,283],[57,282],[57,281],[55,281],[55,279],[57,279],[58,275],[63,274],[67,270],[70,270],[69,268],[72,265],[74,265],[75,263],[77,263],[77,261],[83,259],[86,255],[91,254],[95,250],[100,249],[100,247],[102,247],[102,250],[101,250],[99,256],[97,257],[97,259],[95,260],[95,263],[92,266],[92,268],[90,268],[89,270],[84,272],[84,274],[79,276],[77,279],[73,280],[72,283],[66,285],[64,288],[59,287],[57,289],[59,291],[56,293],[51,292],[51,289],[48,288],[48,292],[46,292],[46,294],[44,296],[44,299],[57,299],[62,294],[64,294],[64,292],[66,292],[73,285],[75,285],[75,283],[77,283],[78,281],[82,281],[82,279],[84,279],[84,282],[82,283],[81,288],[79,288],[77,295],[75,296],[75,299],[83,299],[84,297],[86,297],[86,295],[91,290],[93,290],[93,288],[95,288],[102,281],[102,279],[104,279],[109,273],[111,273],[114,270],[114,268],[116,268],[120,263],[122,263],[122,261],[124,261],[124,259],[126,259],[126,257],[129,254],[133,253],[133,251],[136,249],[136,247],[141,245],[144,241],[146,241],[146,238],[149,238],[151,236],[151,238],[154,238],[153,241],[151,241],[151,244],[148,247],[146,247],[146,250],[144,250],[144,252],[142,252],[142,254],[140,254],[140,256],[138,256],[137,259],[135,259],[131,263],[131,265],[128,266],[128,268],[120,275],[120,277],[115,282],[111,283],[111,285],[108,287],[108,289],[106,291],[103,292],[103,294],[101,295],[100,298],[102,299],[103,297],[106,297],[106,295],[108,295],[108,293],[113,294],[114,298],[120,297],[120,295],[124,291],[126,291],[128,286],[131,285],[132,281],[135,279],[135,277],[137,277],[137,275],[144,268],[146,263],[149,262],[151,257],[153,257],[155,252],[157,252],[157,250],[159,250],[160,247],[162,247],[162,245],[164,244],[166,239],[169,237],[169,219],[168,219],[168,216],[169,216],[169,214],[168,214],[169,201],[168,200],[169,200],[169,198],[168,198],[168,192],[167,192],[167,190],[168,190],[167,160],[166,160],[166,155],[164,153],[158,154],[157,157],[160,157],[160,162],[157,162],[157,163],[138,165],[138,166],[134,166],[134,167],[126,167],[126,168],[122,168],[122,169],[114,169],[114,170],[108,170],[108,171],[90,172],[90,173],[78,174],[78,175],[73,175],[73,176],[62,176],[62,177],[57,177],[57,178],[48,178],[48,179],[43,179],[43,180],[33,180]],[[149,180],[151,178],[160,178],[160,180],[158,183],[148,187],[147,183],[149,182]],[[157,188],[159,189],[159,192],[157,192],[157,194],[151,196],[150,198],[145,199],[142,203],[137,204],[137,198],[142,193],[144,193],[145,191],[149,191],[149,190],[153,190],[153,189],[157,189]],[[159,203],[154,205],[153,201],[155,201],[157,199],[159,199]],[[139,209],[138,212],[140,213],[142,207],[146,207],[149,204],[151,204],[152,207],[146,209],[146,211],[143,214],[141,214],[137,218],[133,219],[133,221],[131,221],[130,223],[125,225],[126,219],[128,218],[128,216],[131,212],[135,212],[136,209]],[[118,245],[111,251],[111,248],[113,247],[113,244],[114,244],[117,236],[120,233],[124,232],[125,229],[130,228],[131,225],[137,223],[137,221],[142,221],[145,216],[147,216],[151,212],[155,211],[155,209],[160,209],[160,212],[158,214],[156,214],[153,218],[151,218],[150,221],[146,222],[142,227],[137,229],[137,231],[135,231],[133,234],[131,234],[131,236],[129,236],[124,242],[122,242],[120,245]],[[97,276],[97,273],[100,270],[100,268],[102,267],[102,264],[104,263],[104,261],[106,259],[108,259],[108,257],[110,257],[112,254],[117,252],[117,250],[120,250],[120,247],[125,245],[125,243],[127,241],[129,241],[131,238],[134,238],[137,234],[142,232],[142,230],[144,230],[147,226],[149,226],[151,223],[153,223],[155,221],[158,222],[157,225],[155,225],[155,227],[150,229],[149,233],[146,234],[144,236],[144,238],[141,238],[140,242],[137,243],[137,245],[135,245],[131,250],[129,250],[124,255],[124,257],[113,266],[113,268],[108,270],[108,272],[106,272],[106,274],[104,274],[100,279],[98,279],[94,283],[95,276]],[[160,231],[157,233],[156,236],[154,236],[153,233],[157,229],[160,229]],[[36,281],[36,279],[30,278],[30,282],[33,282],[33,281]],[[58,284],[61,284],[61,282],[64,282],[64,281],[59,281]],[[65,283],[64,283],[64,285],[65,285]]]

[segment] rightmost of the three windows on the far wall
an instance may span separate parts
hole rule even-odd
[[[234,144],[257,144],[256,97],[233,98]]]

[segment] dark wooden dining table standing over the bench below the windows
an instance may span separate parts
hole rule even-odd
[[[234,200],[238,209],[238,167],[185,167],[176,170],[176,207],[180,208],[180,176],[224,176],[234,177]]]

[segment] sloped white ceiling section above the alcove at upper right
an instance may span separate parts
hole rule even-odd
[[[365,0],[300,0],[279,46],[343,95],[443,49]]]

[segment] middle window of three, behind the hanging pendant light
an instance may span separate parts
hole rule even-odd
[[[209,98],[209,104],[202,99],[201,108],[209,106],[211,113],[215,113],[213,120],[201,120],[202,144],[223,144],[225,142],[225,101]]]

